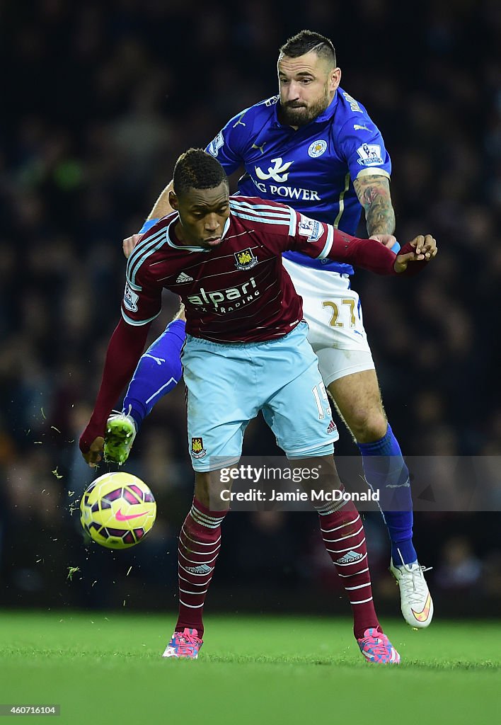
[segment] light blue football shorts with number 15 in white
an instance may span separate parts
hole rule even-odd
[[[339,438],[302,322],[275,340],[218,343],[186,336],[188,444],[195,471],[237,463],[244,431],[262,410],[288,458],[334,452]],[[212,461],[212,457],[217,460]]]

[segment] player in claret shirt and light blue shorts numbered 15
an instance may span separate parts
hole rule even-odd
[[[431,236],[420,236],[395,257],[378,241],[356,239],[291,207],[230,198],[223,167],[202,149],[190,149],[178,159],[171,204],[175,212],[144,235],[128,260],[123,319],[109,342],[80,449],[90,465],[101,460],[107,418],[160,314],[162,289],[179,294],[186,306],[183,370],[195,489],[179,539],[179,617],[164,656],[196,658],[220,525],[228,510],[222,497],[214,508],[210,471],[239,461],[249,421],[262,410],[289,459],[321,463],[330,472],[326,489],[342,489],[333,457],[336,426],[318,358],[307,341],[302,300],[283,268],[282,252],[302,251],[395,274],[417,271],[434,257],[436,244]],[[242,390],[242,376],[254,384]],[[349,595],[360,650],[372,662],[397,663],[399,655],[374,610],[363,523],[355,505],[321,504],[318,513],[326,548]],[[349,561],[347,551],[353,552]]]

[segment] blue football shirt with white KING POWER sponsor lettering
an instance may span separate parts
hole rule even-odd
[[[241,166],[244,196],[290,204],[295,210],[355,234],[362,207],[353,180],[360,172],[390,175],[392,165],[377,126],[358,101],[338,88],[328,108],[294,130],[282,125],[279,96],[241,111],[207,146],[230,175]],[[290,260],[339,273],[350,265],[286,252]]]

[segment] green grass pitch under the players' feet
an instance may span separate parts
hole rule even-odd
[[[264,615],[207,616],[199,660],[162,660],[174,621],[2,612],[0,703],[60,704],[56,723],[72,725],[484,725],[500,717],[498,623],[435,621],[413,631],[384,621],[402,665],[378,667],[363,661],[347,619]]]

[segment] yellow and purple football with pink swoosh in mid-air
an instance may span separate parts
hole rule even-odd
[[[141,542],[156,515],[157,504],[149,487],[123,471],[99,476],[80,500],[84,531],[109,549],[128,549]]]

